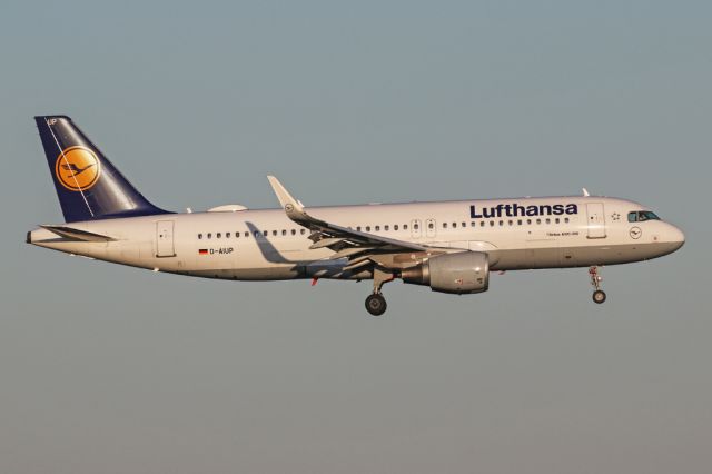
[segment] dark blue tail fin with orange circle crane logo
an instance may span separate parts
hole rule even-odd
[[[65,221],[167,214],[141,196],[69,117],[34,121]]]

